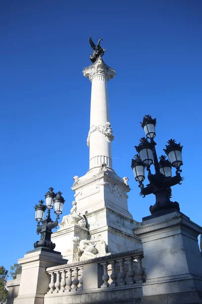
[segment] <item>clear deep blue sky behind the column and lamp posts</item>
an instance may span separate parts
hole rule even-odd
[[[104,39],[103,58],[117,72],[108,84],[113,166],[130,179],[134,219],[155,203],[139,197],[130,168],[150,114],[159,156],[170,138],[184,146],[173,200],[202,225],[201,10],[200,0],[1,1],[1,265],[9,269],[39,239],[33,206],[47,188],[63,192],[68,214],[72,177],[88,170],[89,35]]]

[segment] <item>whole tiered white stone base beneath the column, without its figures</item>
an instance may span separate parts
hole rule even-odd
[[[140,239],[133,234],[133,228],[139,222],[133,220],[128,211],[129,186],[113,170],[96,170],[80,177],[72,187],[77,213],[85,216],[87,229],[72,225],[63,230],[60,228],[52,235],[56,249],[69,262],[72,262],[77,251],[77,245],[72,243],[72,237],[75,236],[80,240],[99,236],[99,239],[105,241],[107,252],[110,253],[142,248]]]

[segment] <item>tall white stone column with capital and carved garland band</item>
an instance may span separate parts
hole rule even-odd
[[[114,78],[115,70],[109,67],[102,59],[97,60],[84,68],[83,74],[92,83],[90,104],[90,130],[87,145],[90,148],[89,169],[106,163],[112,168],[112,145],[114,139],[108,102],[107,82]]]

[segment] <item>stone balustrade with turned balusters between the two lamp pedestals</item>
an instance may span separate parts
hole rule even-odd
[[[141,249],[47,268],[47,294],[94,288],[124,288],[145,282]]]

